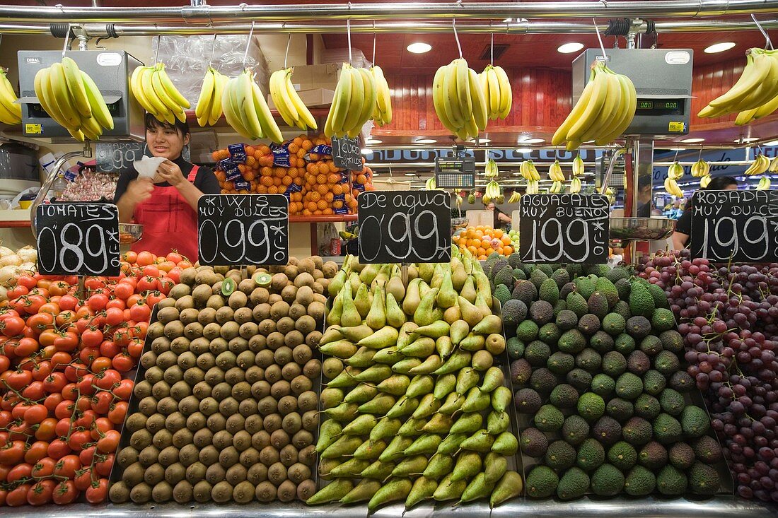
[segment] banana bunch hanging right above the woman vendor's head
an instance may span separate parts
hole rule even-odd
[[[130,89],[143,109],[157,121],[173,124],[176,119],[181,122],[187,120],[184,110],[189,108],[189,101],[173,86],[164,63],[135,68],[130,78]]]

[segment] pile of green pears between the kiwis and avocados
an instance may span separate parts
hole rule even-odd
[[[316,445],[328,485],[307,503],[497,506],[523,481],[510,469],[518,442],[489,279],[458,249],[450,264],[412,265],[402,277],[396,264],[347,257],[329,285]]]

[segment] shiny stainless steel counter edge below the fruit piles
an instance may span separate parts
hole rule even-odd
[[[375,518],[398,518],[402,515],[401,504],[386,506],[372,516]],[[46,506],[33,508],[4,507],[0,516],[14,518],[86,518],[87,516],[115,516],[116,518],[185,518],[188,516],[209,516],[219,518],[366,518],[366,506],[316,506],[308,507],[301,503],[261,504],[254,502],[245,506],[237,504],[195,504],[195,505],[144,505],[124,504],[121,506],[103,505],[89,506],[75,504],[72,506]],[[420,504],[406,512],[404,518],[516,518],[531,516],[532,518],[724,518],[734,516],[740,518],[768,518],[778,516],[778,507],[762,502],[748,502],[727,496],[714,499],[659,499],[656,497],[642,499],[589,499],[584,498],[574,502],[557,502],[553,500],[516,499],[489,512],[486,502],[476,502],[461,506],[440,505],[431,503]]]

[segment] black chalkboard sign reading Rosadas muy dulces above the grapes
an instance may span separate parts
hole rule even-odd
[[[710,261],[778,261],[778,191],[697,191],[689,248]]]

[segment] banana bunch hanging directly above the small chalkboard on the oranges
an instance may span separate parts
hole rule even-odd
[[[373,117],[377,98],[376,81],[370,70],[344,63],[338,86],[335,86],[335,98],[324,124],[324,135],[356,138],[365,123]]]

